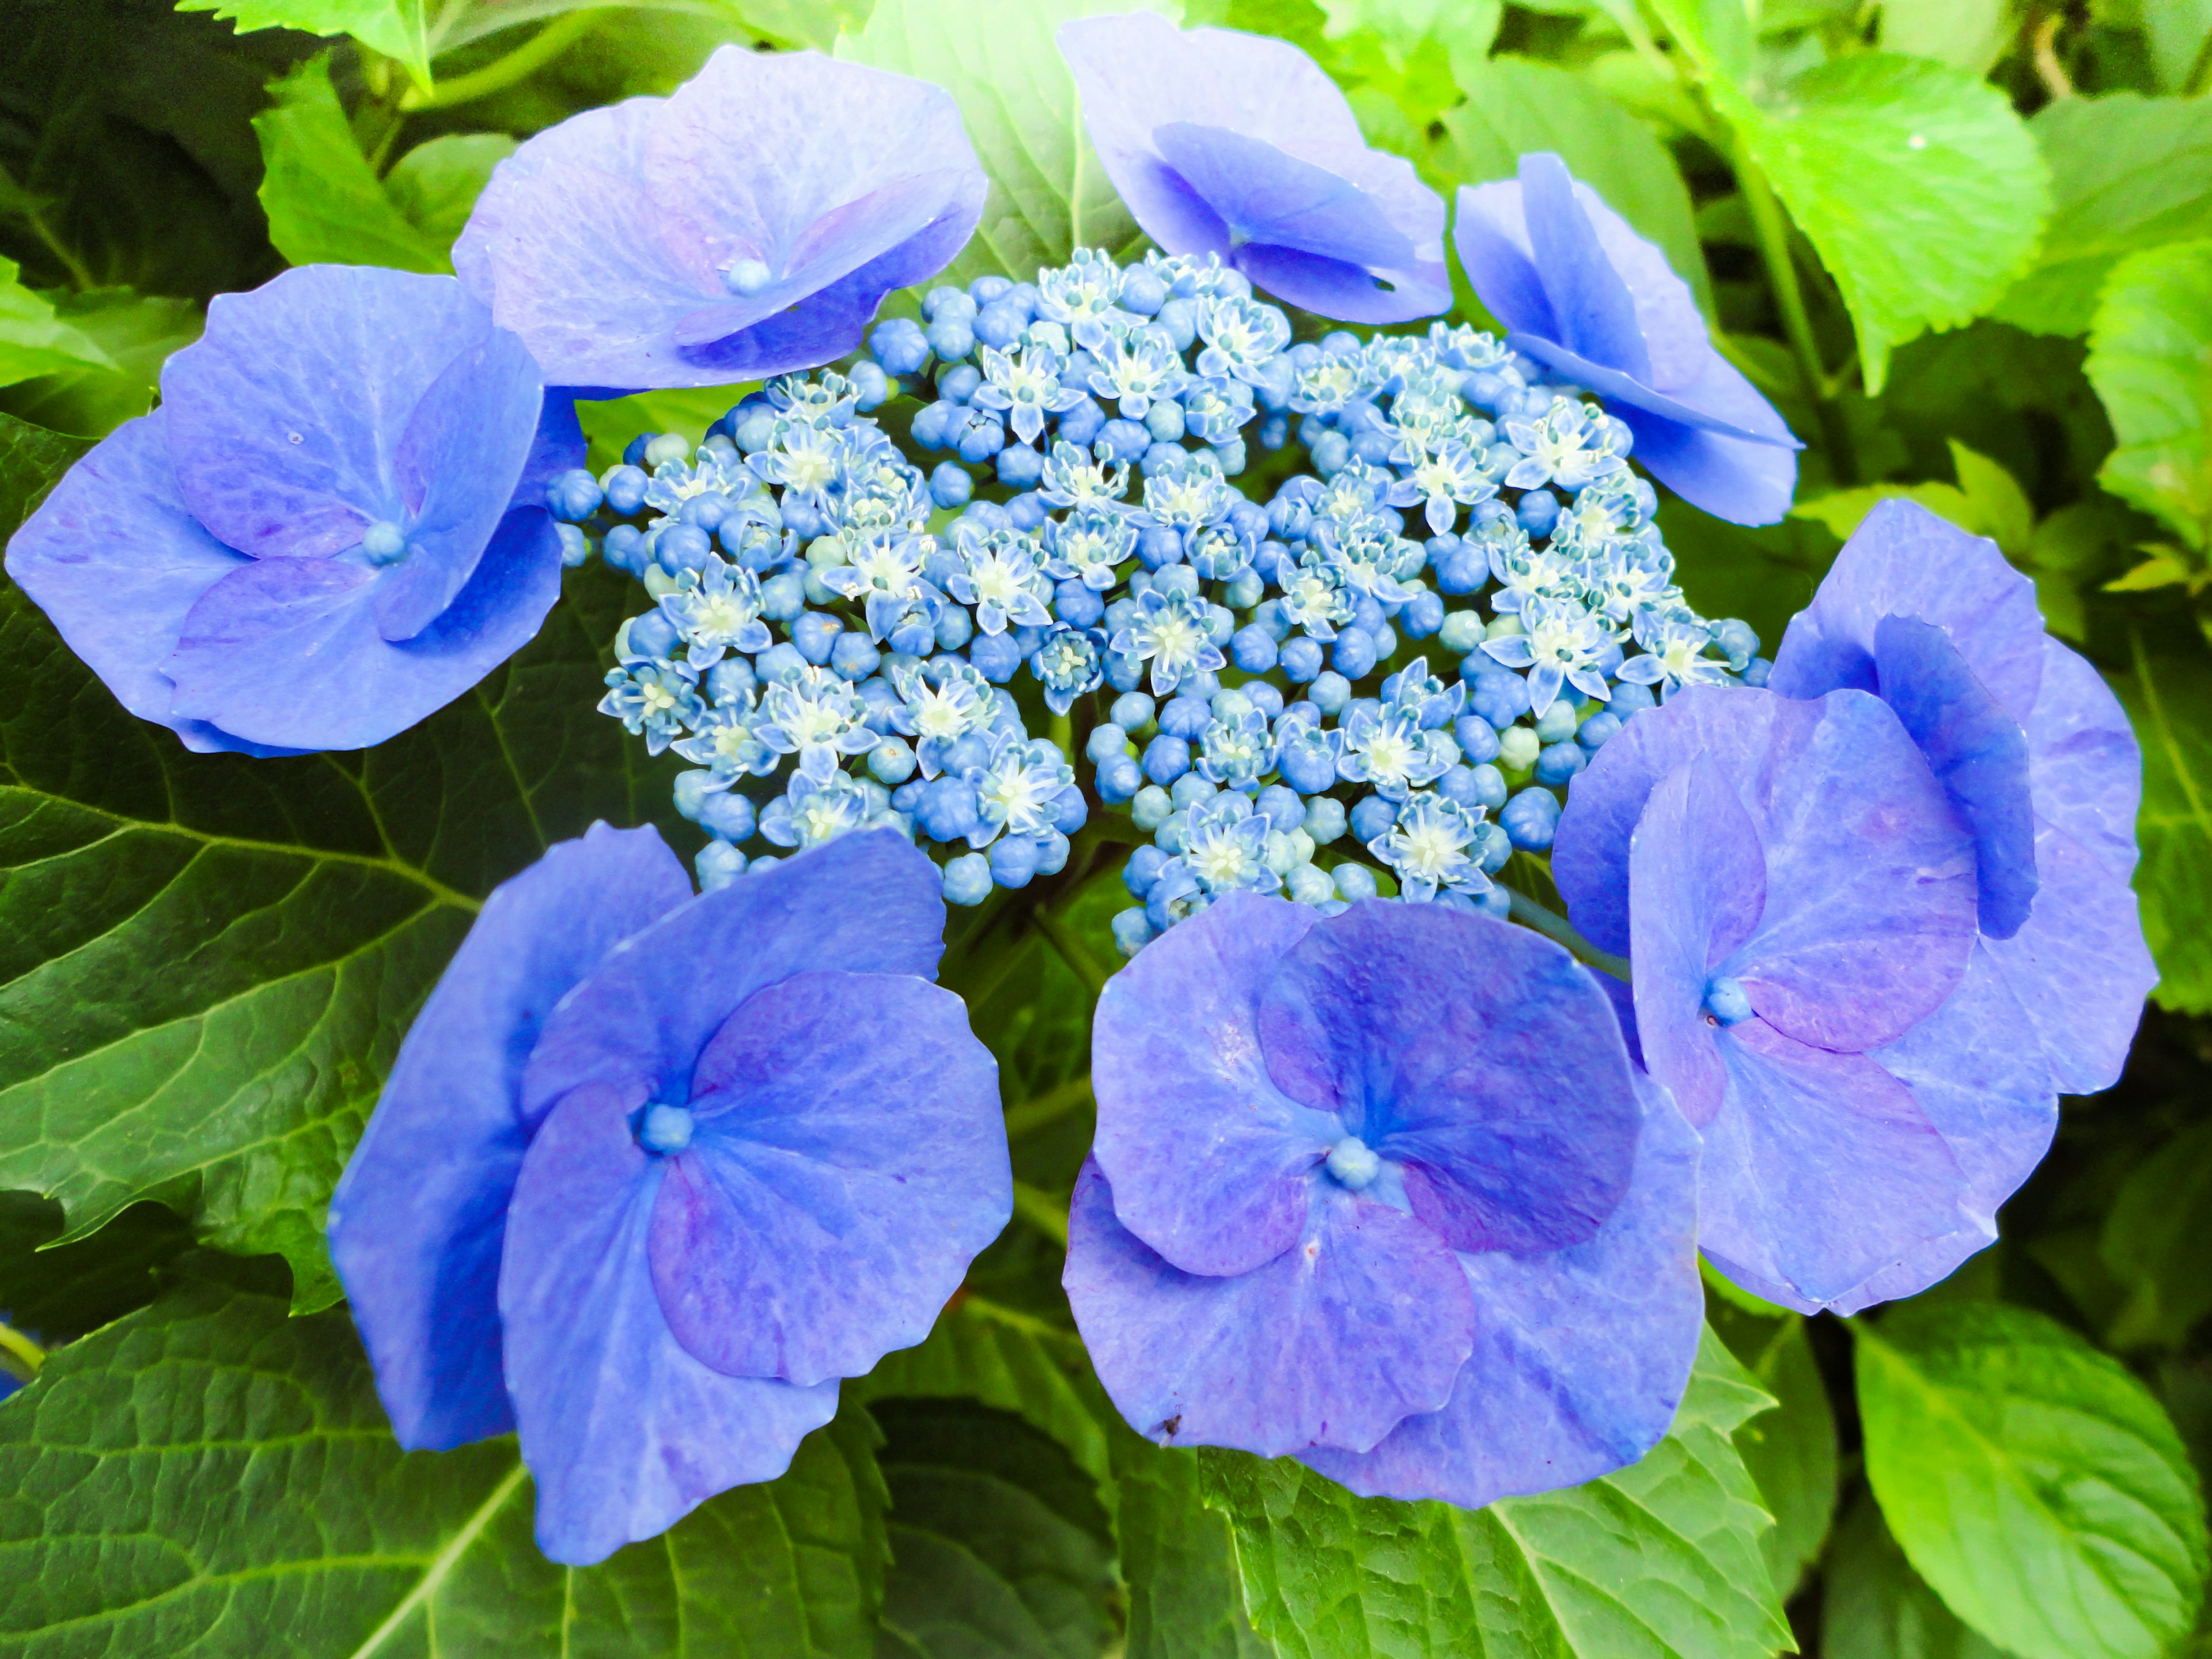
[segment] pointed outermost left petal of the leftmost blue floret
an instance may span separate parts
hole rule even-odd
[[[199,595],[248,564],[186,511],[168,465],[168,414],[126,420],[84,460],[7,546],[7,573],[46,613],[115,699],[168,726],[188,750],[285,754],[206,721],[184,719],[161,664]]]

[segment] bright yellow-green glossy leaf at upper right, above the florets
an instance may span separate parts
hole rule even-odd
[[[2035,254],[2048,168],[1995,86],[1856,53],[1770,104],[1732,84],[1714,102],[1836,276],[1869,396],[1893,347],[1973,321]]]

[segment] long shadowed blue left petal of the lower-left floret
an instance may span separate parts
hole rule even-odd
[[[498,1283],[533,1128],[522,1066],[553,1004],[686,898],[659,832],[595,823],[491,891],[407,1029],[330,1201],[330,1254],[409,1451],[513,1427]]]

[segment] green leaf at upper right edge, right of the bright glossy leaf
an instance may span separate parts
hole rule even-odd
[[[2086,334],[2121,254],[2212,234],[2212,104],[2059,97],[2028,131],[2051,161],[2051,230],[1991,314],[2037,334]]]

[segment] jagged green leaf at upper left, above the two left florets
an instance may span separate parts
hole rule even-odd
[[[394,265],[449,272],[445,246],[385,195],[330,86],[330,58],[270,82],[276,104],[254,117],[270,241],[294,265]]]

